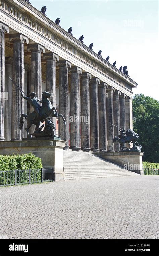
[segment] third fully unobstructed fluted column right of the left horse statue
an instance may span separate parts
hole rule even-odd
[[[99,108],[98,108],[98,84],[100,79],[92,78],[90,81],[90,130],[91,151],[99,152]]]

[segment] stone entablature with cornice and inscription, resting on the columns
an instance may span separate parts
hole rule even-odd
[[[14,3],[16,3],[16,7],[13,6]],[[20,9],[18,9],[19,6],[22,6],[23,8],[25,7],[26,13],[23,13]],[[64,29],[57,26],[47,17],[44,17],[43,14],[41,14],[38,10],[36,10],[33,6],[29,5],[27,2],[21,0],[0,1],[0,11],[1,10],[5,14],[7,14],[7,16],[9,15],[12,19],[14,19],[16,23],[20,22],[20,26],[27,26],[29,29],[33,30],[33,32],[36,32],[36,36],[45,37],[45,39],[48,41],[48,44],[50,42],[55,44],[58,48],[61,48],[62,50],[71,54],[74,58],[80,60],[80,63],[82,61],[83,63],[87,64],[91,68],[87,71],[91,72],[90,70],[95,69],[96,71],[98,71],[98,73],[103,74],[104,77],[109,78],[109,80],[105,82],[115,82],[115,84],[117,85],[116,89],[119,89],[120,86],[124,87],[125,89],[123,93],[125,91],[128,91],[128,96],[131,96],[132,92],[129,87],[136,87],[137,83],[135,83],[125,74],[121,73],[110,63],[107,63],[103,58],[90,50],[86,45],[82,44],[76,38],[69,35]],[[29,15],[33,14],[32,12],[34,12],[34,16],[30,18]],[[36,17],[37,15],[38,18]],[[43,25],[39,25],[40,23]],[[9,24],[9,26],[12,25]],[[49,27],[49,29],[46,29],[46,26]],[[58,29],[56,27],[58,27]],[[12,28],[14,29],[14,26]],[[62,39],[60,38],[60,36]],[[66,40],[68,41],[68,43],[66,42]],[[51,50],[49,49],[49,47],[47,47],[47,45],[45,45],[45,47],[46,49]],[[58,52],[58,54],[59,56],[63,57],[60,52]]]

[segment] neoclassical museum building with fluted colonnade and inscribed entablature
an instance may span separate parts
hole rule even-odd
[[[132,129],[137,83],[25,0],[0,1],[1,141],[26,137],[26,124],[20,131],[19,122],[30,111],[9,77],[39,99],[44,90],[51,93],[66,120],[54,118],[66,148],[118,152],[119,143],[112,142],[117,127]]]

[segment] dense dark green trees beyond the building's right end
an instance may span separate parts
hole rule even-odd
[[[133,130],[144,152],[143,161],[159,163],[159,102],[150,96],[133,97]]]

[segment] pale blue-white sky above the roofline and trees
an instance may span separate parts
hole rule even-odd
[[[84,44],[102,50],[116,67],[126,66],[130,78],[138,83],[134,94],[142,93],[159,100],[158,89],[158,1],[33,1],[55,22],[60,17],[64,30],[72,27],[75,38],[84,35]]]

